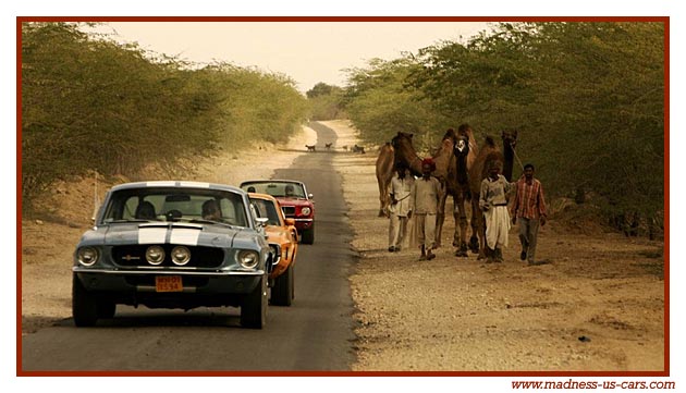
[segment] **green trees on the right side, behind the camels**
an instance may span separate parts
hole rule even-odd
[[[501,23],[348,70],[339,110],[367,144],[409,132],[426,155],[462,123],[479,145],[517,130],[517,158],[536,164],[553,208],[660,236],[664,39],[657,22]]]

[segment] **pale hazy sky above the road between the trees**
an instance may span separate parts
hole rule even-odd
[[[117,22],[102,30],[144,49],[193,62],[212,60],[283,73],[302,91],[345,85],[343,69],[416,52],[488,29],[476,22]]]

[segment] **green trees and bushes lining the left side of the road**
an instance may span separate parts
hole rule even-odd
[[[308,115],[284,75],[198,66],[76,24],[24,24],[21,72],[23,210],[56,181],[282,143]]]

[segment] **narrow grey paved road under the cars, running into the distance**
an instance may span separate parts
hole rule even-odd
[[[353,352],[352,232],[341,177],[323,152],[335,133],[318,123],[316,153],[275,179],[307,183],[315,195],[315,244],[301,245],[292,307],[270,306],[264,330],[241,329],[237,308],[150,310],[118,307],[89,329],[71,319],[22,337],[23,371],[350,371]],[[85,372],[86,373],[86,372]]]

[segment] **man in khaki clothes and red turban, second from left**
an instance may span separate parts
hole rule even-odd
[[[441,193],[441,183],[431,176],[436,170],[436,163],[431,158],[421,161],[421,179],[415,182],[412,193],[417,242],[421,247],[419,260],[431,260],[436,254],[431,250],[436,245],[436,213]]]

